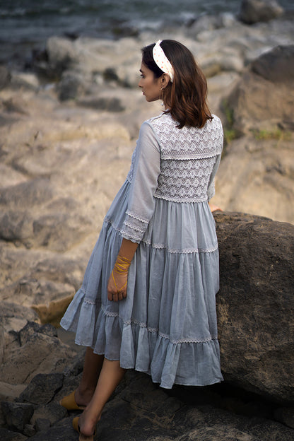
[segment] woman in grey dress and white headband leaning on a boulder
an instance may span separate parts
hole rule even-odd
[[[223,129],[187,47],[159,40],[142,53],[139,87],[146,101],[163,100],[165,110],[141,126],[127,180],[61,320],[87,346],[81,384],[61,400],[69,410],[84,409],[73,421],[80,440],[93,439],[126,369],[165,388],[223,380],[218,242],[208,206]]]

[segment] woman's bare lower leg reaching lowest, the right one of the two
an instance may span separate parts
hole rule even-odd
[[[78,419],[78,425],[83,435],[93,435],[97,422],[100,420],[102,410],[108,399],[124,377],[125,369],[120,367],[119,360],[104,359],[100,371],[95,393]],[[85,439],[87,439],[85,437]],[[81,438],[80,438],[81,439]]]

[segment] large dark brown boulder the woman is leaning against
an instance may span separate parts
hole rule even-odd
[[[214,216],[225,380],[293,405],[294,226],[244,213]]]

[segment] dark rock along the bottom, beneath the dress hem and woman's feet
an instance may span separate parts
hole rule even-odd
[[[116,394],[105,406],[97,425],[98,439],[293,440],[292,429],[261,417],[258,411],[250,417],[225,410],[234,404],[234,401],[222,399],[217,392],[208,388],[176,387],[166,391],[153,384],[147,375],[128,372]],[[74,440],[76,433],[71,427],[71,418],[55,423],[31,440]]]

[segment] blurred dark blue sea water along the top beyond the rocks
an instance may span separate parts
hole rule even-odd
[[[117,38],[237,13],[241,0],[0,0],[0,62],[23,58],[52,35]],[[286,9],[293,0],[280,0]]]

